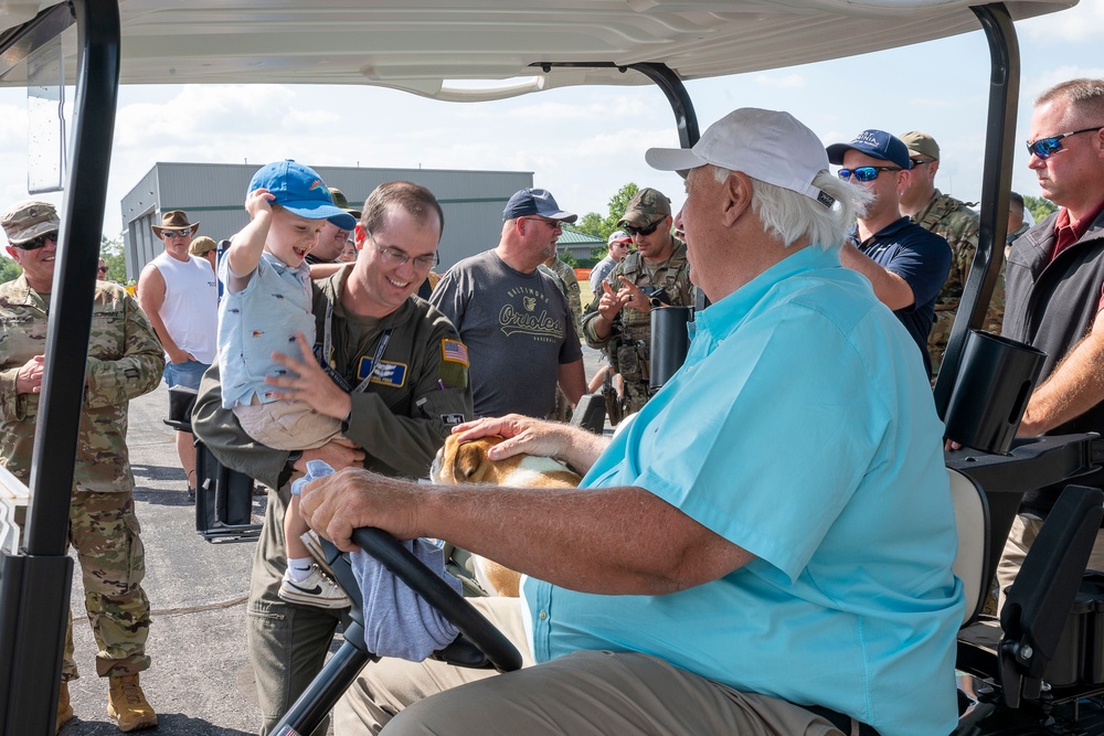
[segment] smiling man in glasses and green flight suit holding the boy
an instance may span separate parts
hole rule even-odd
[[[269,383],[342,419],[341,437],[314,450],[270,449],[253,441],[223,408],[217,361],[200,384],[195,436],[226,467],[277,489],[268,494],[248,604],[262,734],[321,670],[343,612],[278,596],[287,567],[284,513],[293,473],[320,459],[335,469],[428,477],[450,427],[471,418],[467,348],[444,313],[413,297],[433,266],[444,223],[429,190],[410,182],[381,184],[353,231],[357,260],[314,282],[315,354],[304,343],[300,354],[282,361],[288,374]]]

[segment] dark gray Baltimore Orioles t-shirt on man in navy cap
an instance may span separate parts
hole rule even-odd
[[[552,277],[517,271],[487,250],[448,269],[429,302],[468,348],[477,416],[552,414],[560,365],[583,358]]]

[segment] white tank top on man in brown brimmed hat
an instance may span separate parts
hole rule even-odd
[[[153,259],[164,279],[164,302],[158,312],[177,346],[200,363],[214,361],[219,349],[219,282],[203,258],[177,260],[167,253]]]

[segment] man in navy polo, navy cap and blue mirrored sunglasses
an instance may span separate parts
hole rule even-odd
[[[916,341],[931,377],[927,334],[935,321],[935,299],[951,270],[951,246],[901,214],[912,167],[909,149],[884,130],[863,130],[850,143],[829,146],[828,160],[843,167],[840,179],[858,180],[870,194],[840,260],[870,279],[874,295]]]

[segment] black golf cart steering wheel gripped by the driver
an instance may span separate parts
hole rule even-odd
[[[362,526],[353,530],[352,541],[460,630],[453,643],[434,654],[435,659],[463,666],[490,664],[499,672],[521,669],[517,647],[394,536]]]

